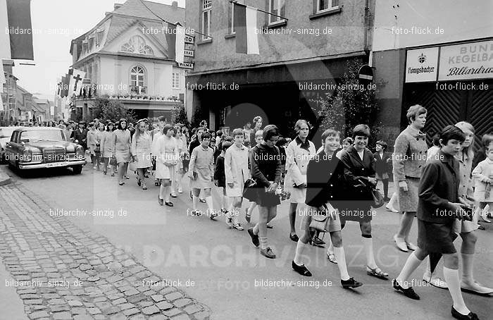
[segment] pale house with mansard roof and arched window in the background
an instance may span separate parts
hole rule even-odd
[[[151,1],[127,0],[96,26],[73,39],[73,68],[86,73],[73,101],[77,118],[90,118],[92,101],[108,95],[132,109],[139,118],[171,118],[185,97],[185,72],[168,51],[167,23],[185,24],[185,9]]]

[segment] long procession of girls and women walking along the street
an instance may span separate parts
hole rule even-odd
[[[247,233],[253,245],[260,247],[260,254],[270,259],[276,254],[269,245],[268,229],[277,207],[286,199],[289,239],[297,243],[292,269],[311,276],[304,264],[304,250],[308,244],[327,245],[327,258],[337,264],[343,288],[363,284],[347,270],[342,244],[347,221],[359,224],[368,276],[389,279],[389,273],[377,266],[372,238],[375,208],[387,202],[388,210],[402,214],[393,240],[399,250],[411,251],[392,287],[419,300],[408,278],[428,257],[423,280],[449,290],[451,314],[456,319],[478,319],[466,307],[461,291],[493,294],[493,289],[473,276],[476,233],[484,228],[480,223],[490,222],[493,211],[493,135],[484,135],[482,149],[474,153],[473,125],[461,121],[443,128],[428,147],[423,132],[426,116],[423,106],[408,109],[408,127],[395,140],[392,153],[383,140],[377,140],[375,152],[370,151],[370,128],[365,124],[356,125],[349,137],[327,128],[322,146],[316,150],[308,140],[311,128],[307,121],[297,121],[296,135],[290,139],[281,137],[276,125],[265,125],[261,116],[253,119],[253,128],[246,123],[231,135],[209,130],[206,121],[189,132],[185,125],[166,123],[163,117],[155,128],[147,119],[135,126],[125,119],[116,123],[94,119],[88,129],[81,122],[68,135],[88,150],[95,170],[118,174],[120,186],[130,179],[128,172],[136,173],[142,190],[147,190],[147,181],[154,177],[161,206],[173,207],[171,198],[183,193],[182,183],[189,183],[192,216],[213,220],[224,216],[228,228],[244,230],[239,217],[248,199],[244,219],[251,223],[258,207],[258,221]],[[391,178],[395,192],[389,197]],[[379,184],[383,195],[377,189]],[[212,197],[215,187],[219,204]],[[199,202],[206,204],[205,214]],[[300,216],[301,230],[297,230]],[[415,217],[416,245],[410,239]],[[328,243],[319,238],[320,233],[330,234]],[[463,240],[461,254],[454,245],[458,235]],[[444,280],[435,272],[442,258]]]

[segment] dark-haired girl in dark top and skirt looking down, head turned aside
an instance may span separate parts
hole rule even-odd
[[[263,129],[263,141],[253,147],[250,152],[251,178],[256,180],[258,187],[258,223],[249,228],[251,242],[260,245],[260,253],[270,259],[275,258],[274,252],[267,243],[267,223],[275,218],[277,206],[281,203],[275,194],[281,181],[281,159],[275,142],[279,139],[279,130],[275,125],[267,125]]]

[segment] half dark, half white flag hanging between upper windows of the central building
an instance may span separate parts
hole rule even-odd
[[[238,54],[259,54],[257,9],[244,4],[235,6],[236,52]]]

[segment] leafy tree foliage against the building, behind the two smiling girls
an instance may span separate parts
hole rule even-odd
[[[337,84],[337,89],[332,94],[327,93],[326,99],[320,101],[322,109],[319,115],[323,116],[320,127],[322,131],[335,128],[344,137],[351,137],[356,125],[366,124],[370,127],[372,135],[369,144],[373,146],[382,129],[382,123],[377,121],[377,90],[359,84],[359,68],[361,63],[358,61],[348,61],[347,72]]]

